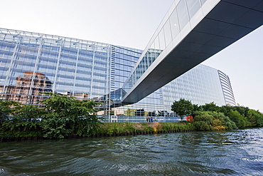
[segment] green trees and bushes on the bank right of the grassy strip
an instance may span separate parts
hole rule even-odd
[[[205,105],[193,105],[190,101],[175,101],[172,110],[180,116],[192,114],[196,130],[235,130],[241,128],[263,127],[263,114],[243,106],[223,105],[214,102]],[[185,104],[185,107],[180,108]]]

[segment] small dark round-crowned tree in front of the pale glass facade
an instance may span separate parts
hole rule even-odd
[[[181,120],[183,120],[183,115],[193,113],[193,104],[189,100],[181,98],[180,100],[173,102],[171,110],[180,115]]]

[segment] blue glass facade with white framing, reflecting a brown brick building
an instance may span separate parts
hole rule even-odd
[[[36,104],[47,91],[80,100],[109,93],[109,44],[1,29],[0,47],[2,98]]]

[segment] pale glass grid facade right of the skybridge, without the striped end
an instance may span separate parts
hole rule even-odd
[[[171,109],[174,100],[180,100],[180,98],[191,100],[193,104],[198,105],[211,102],[219,106],[225,105],[218,70],[209,66],[195,66],[195,68],[163,86],[162,89],[167,110]]]

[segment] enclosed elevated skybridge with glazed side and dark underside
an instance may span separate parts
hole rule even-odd
[[[124,84],[122,102],[138,102],[262,24],[262,0],[174,1]]]

